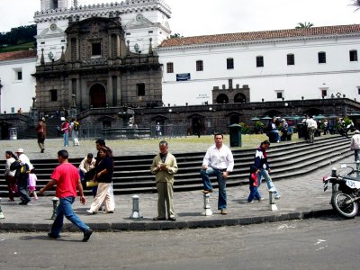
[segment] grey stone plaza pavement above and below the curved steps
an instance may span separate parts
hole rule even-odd
[[[61,148],[61,139],[48,139],[46,153],[40,156],[36,141],[14,140],[1,141],[3,150],[10,148],[24,148],[25,153],[31,158],[55,158],[56,152]],[[137,146],[137,142],[128,141],[125,144],[115,140],[109,140],[107,143],[113,148],[116,154],[156,154],[157,140],[154,140],[155,148],[152,144],[145,147],[143,144]],[[204,145],[193,146],[192,151],[204,151]],[[186,146],[172,145],[172,152],[189,150]],[[175,150],[174,150],[175,149]],[[83,157],[87,152],[94,151],[94,140],[82,141],[79,148],[69,147],[67,150],[70,157]],[[40,157],[39,157],[40,156]],[[220,215],[217,210],[218,189],[211,193],[210,204],[213,215],[202,216],[203,196],[201,191],[178,192],[174,194],[175,202],[175,221],[153,221],[157,216],[157,193],[137,193],[139,196],[139,215],[140,219],[131,220],[132,196],[135,194],[115,195],[116,210],[112,214],[98,212],[96,215],[87,215],[93,198],[87,196],[87,202],[82,205],[74,203],[74,211],[91,228],[97,231],[117,231],[117,230],[149,230],[149,229],[189,229],[189,228],[208,228],[226,225],[247,225],[260,222],[271,222],[281,220],[298,220],[312,218],[329,214],[332,211],[330,201],[330,191],[323,192],[322,177],[329,175],[331,167],[337,166],[338,171],[348,170],[340,169],[340,163],[351,163],[353,157],[347,157],[344,160],[329,166],[322,167],[306,175],[289,177],[275,181],[275,186],[281,193],[282,198],[276,200],[278,211],[269,209],[268,192],[266,183],[260,186],[260,193],[265,198],[263,202],[254,201],[247,203],[248,186],[239,185],[230,187],[228,191],[228,214]],[[200,175],[199,175],[200,177]],[[176,181],[176,178],[175,178]],[[155,185],[155,183],[154,183]],[[40,189],[40,186],[37,188]],[[4,220],[0,220],[0,230],[12,231],[48,231],[52,220],[52,197],[41,196],[38,201],[32,201],[28,205],[18,205],[19,199],[15,202],[7,202],[7,198],[2,196],[2,211]],[[340,218],[340,217],[339,217]],[[64,229],[77,230],[68,220],[65,221]]]

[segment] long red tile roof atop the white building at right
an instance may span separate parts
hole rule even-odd
[[[344,33],[360,33],[360,24],[351,25],[335,25],[335,26],[321,26],[311,27],[308,29],[285,29],[275,31],[249,31],[237,33],[224,33],[208,36],[195,36],[188,38],[175,38],[164,40],[159,47],[182,47],[196,44],[213,44],[234,41],[252,41],[252,40],[270,40],[270,39],[286,39],[296,37],[311,37],[322,35],[335,35]]]

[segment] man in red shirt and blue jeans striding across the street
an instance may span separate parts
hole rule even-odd
[[[85,223],[80,220],[73,211],[72,204],[76,198],[76,185],[80,193],[80,202],[85,204],[86,199],[83,192],[83,185],[81,184],[80,175],[76,166],[70,164],[67,160],[67,150],[58,151],[58,163],[60,164],[52,172],[48,184],[40,189],[40,194],[50,189],[54,184],[57,185],[56,196],[59,199],[57,218],[52,224],[51,231],[49,232],[49,238],[59,238],[60,230],[64,223],[64,216],[67,220],[70,220],[81,231],[84,232],[83,242],[86,242],[93,229],[90,229]]]

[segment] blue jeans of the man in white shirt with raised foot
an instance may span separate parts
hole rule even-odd
[[[222,172],[209,166],[206,170],[200,170],[200,173],[204,190],[212,190],[210,176],[216,176],[219,184],[218,209],[226,209],[226,180],[222,177]]]

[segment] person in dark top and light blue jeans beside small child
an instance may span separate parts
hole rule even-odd
[[[257,148],[257,152],[255,153],[255,164],[254,166],[259,170],[257,174],[258,186],[261,184],[261,177],[264,177],[266,180],[267,188],[275,189],[275,199],[280,199],[281,195],[277,192],[275,185],[273,184],[273,180],[271,179],[269,173],[271,172],[270,166],[267,163],[267,153],[266,149],[270,147],[270,141],[264,140],[259,148]]]

